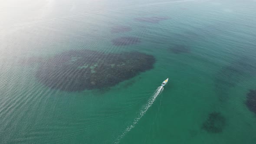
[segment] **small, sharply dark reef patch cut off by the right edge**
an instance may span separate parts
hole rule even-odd
[[[247,93],[245,104],[250,111],[256,114],[256,90],[250,90],[250,92]]]

